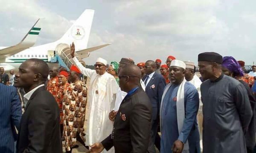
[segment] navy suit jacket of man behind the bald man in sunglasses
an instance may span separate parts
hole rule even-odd
[[[145,81],[147,76],[143,78]],[[161,74],[154,73],[153,77],[148,82],[148,85],[145,88],[145,92],[147,93],[151,105],[152,105],[152,119],[157,119],[159,116],[160,104],[162,101],[163,90],[166,86],[166,81]]]

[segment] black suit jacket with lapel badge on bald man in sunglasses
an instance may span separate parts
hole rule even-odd
[[[102,141],[106,150],[115,153],[146,153],[151,132],[150,100],[139,88],[123,99],[113,125],[113,132]]]

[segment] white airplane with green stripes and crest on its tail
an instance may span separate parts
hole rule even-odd
[[[11,47],[0,47],[0,67],[3,67],[5,71],[17,71],[20,64],[30,58],[42,59],[50,65],[50,58],[55,52],[56,46],[61,43],[71,44],[74,42],[76,54],[81,59],[88,57],[92,51],[110,45],[104,44],[87,48],[93,15],[94,10],[86,9],[59,40],[32,47],[41,31],[41,20],[38,19],[20,43]]]

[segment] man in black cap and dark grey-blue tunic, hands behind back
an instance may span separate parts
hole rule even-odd
[[[244,134],[252,118],[250,101],[236,79],[221,71],[222,56],[214,52],[198,55],[203,102],[204,153],[246,153]]]

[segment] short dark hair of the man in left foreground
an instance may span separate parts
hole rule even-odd
[[[49,66],[46,62],[44,62],[42,59],[28,59],[27,61],[32,61],[34,62],[33,65],[33,71],[35,73],[39,73],[42,76],[42,80],[43,82],[47,81],[48,75],[49,75]]]

